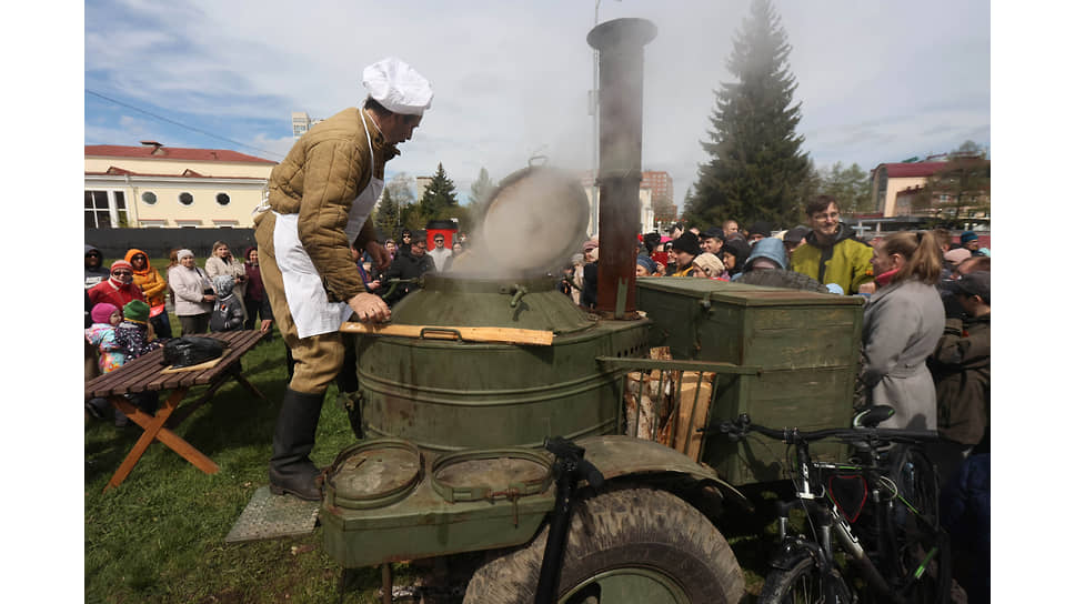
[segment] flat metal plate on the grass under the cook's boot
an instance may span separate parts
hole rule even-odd
[[[261,486],[250,497],[224,543],[308,535],[318,524],[319,507],[320,502],[273,495],[268,485]]]

